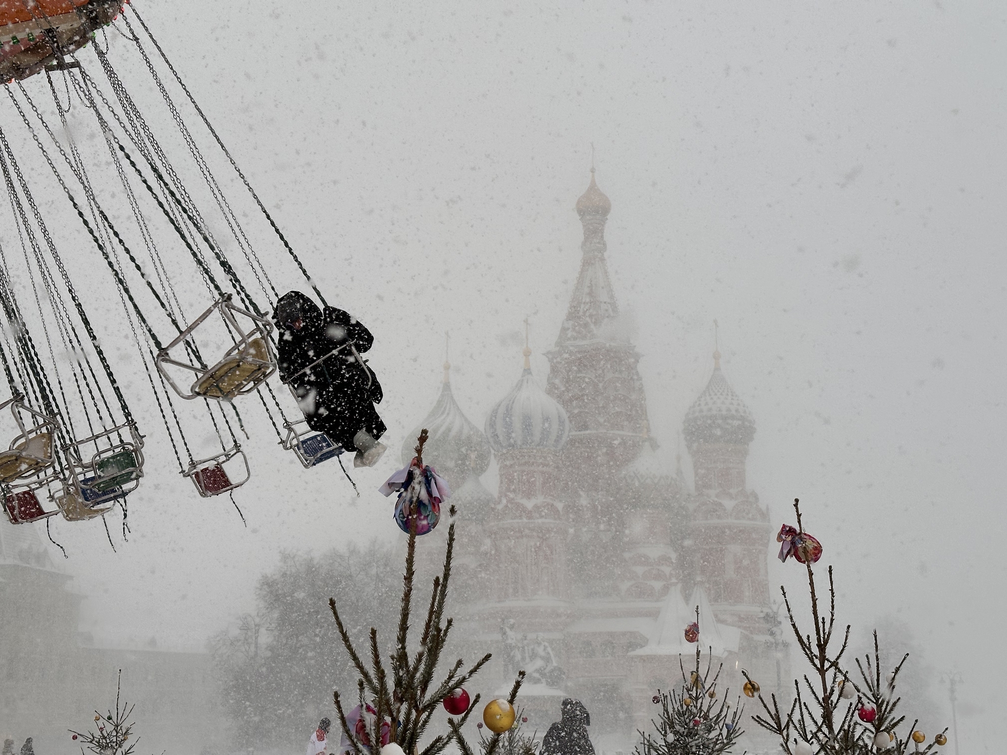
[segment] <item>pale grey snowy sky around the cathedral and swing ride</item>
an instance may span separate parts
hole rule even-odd
[[[800,497],[836,568],[840,620],[858,642],[904,622],[923,653],[909,663],[929,666],[949,725],[939,676],[964,678],[961,751],[996,751],[1001,3],[138,8],[329,303],[374,332],[390,451],[351,471],[357,499],[337,467],[302,470],[257,417],[253,478],[236,496],[246,528],[226,499],[197,498],[163,431],[145,427],[163,465],[149,463],[130,498],[130,542],[113,553],[100,522],[53,521],[70,558],[52,557],[88,595],[82,629],[199,648],[253,610],[282,550],[393,542],[376,488],[435,401],[444,331],[477,425],[520,375],[526,315],[545,384],[593,143],[612,201],[608,268],[660,453],[674,465],[716,318],[725,374],[757,427],[748,486],[773,526]],[[115,60],[127,43],[110,39]],[[279,251],[264,259],[290,273]],[[137,406],[149,402],[139,390]],[[774,550],[770,585],[803,595],[804,571]]]

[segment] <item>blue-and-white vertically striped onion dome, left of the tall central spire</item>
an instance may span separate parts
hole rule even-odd
[[[493,451],[551,449],[559,451],[570,436],[570,420],[551,396],[532,376],[525,348],[525,371],[521,380],[486,418],[486,438]]]

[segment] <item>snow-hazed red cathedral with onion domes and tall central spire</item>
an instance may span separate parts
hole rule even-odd
[[[421,424],[430,432],[424,459],[454,490],[455,574],[466,577],[455,579],[453,615],[466,657],[493,653],[483,698],[506,693],[524,668],[520,702],[536,728],[558,718],[563,697],[575,697],[591,713],[596,742],[631,749],[652,718],[651,697],[681,684],[680,658],[687,668],[695,662],[696,645],[684,638],[695,606],[699,645],[715,667],[723,663],[721,689],[733,697],[742,667],[778,678],[771,528],[746,484],[755,425],[718,352],[684,418],[694,485],[681,465],[658,462],[639,352],[619,327],[608,276],[611,202],[593,168],[576,211],[581,267],[546,353],[549,374],[533,374],[526,343],[523,372],[480,428],[455,402],[445,363],[440,398]],[[491,455],[495,494],[480,481]],[[442,525],[428,538],[445,536]],[[424,551],[435,568],[443,552]]]

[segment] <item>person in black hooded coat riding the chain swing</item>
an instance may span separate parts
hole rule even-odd
[[[386,428],[375,410],[381,384],[361,356],[374,342],[371,331],[341,309],[322,311],[298,291],[277,302],[275,321],[280,380],[293,389],[308,427],[356,451],[354,466],[374,466],[385,452],[378,439]]]

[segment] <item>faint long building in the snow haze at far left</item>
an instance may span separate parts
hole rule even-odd
[[[96,647],[79,631],[83,596],[51,561],[35,527],[0,523],[0,736],[37,753],[74,752],[68,729],[95,726],[96,708],[136,703],[140,752],[214,751],[225,729],[208,656]]]

